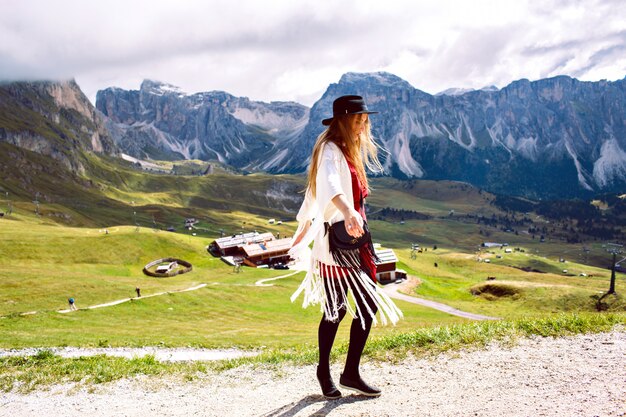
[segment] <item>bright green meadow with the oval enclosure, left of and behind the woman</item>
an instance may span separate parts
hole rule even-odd
[[[295,346],[315,342],[318,310],[303,310],[289,296],[301,274],[272,287],[254,283],[289,271],[244,268],[235,273],[206,253],[208,240],[177,233],[55,227],[3,221],[0,253],[0,347],[18,346]],[[24,226],[27,226],[24,228]],[[6,233],[6,234],[5,234]],[[180,257],[191,273],[150,278],[141,272],[160,257]],[[67,298],[87,307],[128,298],[139,286],[143,298],[112,307],[61,314]],[[300,301],[300,300],[299,300]],[[406,319],[388,334],[432,324],[465,320],[435,310],[402,305]],[[37,311],[36,314],[18,313]],[[285,332],[285,327],[289,332]],[[342,337],[345,337],[344,329]]]

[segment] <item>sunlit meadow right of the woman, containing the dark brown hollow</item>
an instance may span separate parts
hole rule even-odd
[[[479,256],[492,262],[479,262]],[[415,295],[502,318],[594,311],[597,297],[609,286],[610,271],[587,265],[567,263],[568,274],[563,274],[564,264],[558,260],[526,253],[503,254],[500,259],[493,254],[479,256],[445,249],[418,254],[415,260],[401,255],[405,269],[422,281]],[[521,269],[529,267],[543,273]],[[583,270],[589,276],[570,274]],[[624,286],[621,275],[618,285]]]

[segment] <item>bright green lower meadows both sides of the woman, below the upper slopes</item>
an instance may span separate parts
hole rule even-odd
[[[232,267],[210,256],[209,240],[131,226],[103,229],[68,228],[4,219],[0,253],[0,347],[25,346],[198,346],[294,348],[315,344],[320,312],[302,309],[289,296],[302,274],[255,286],[259,279],[289,271]],[[477,262],[475,254],[446,248],[410,258],[397,249],[401,267],[419,277],[415,295],[456,308],[502,318],[542,316],[567,311],[593,311],[591,297],[606,290],[608,271],[584,267],[593,277],[562,276],[558,261],[532,254],[506,254],[493,262]],[[177,257],[194,265],[191,273],[151,278],[141,269],[151,260]],[[434,264],[437,263],[437,267]],[[549,273],[528,273],[531,265]],[[572,271],[582,266],[570,266]],[[472,288],[491,281],[509,285],[513,295],[473,295]],[[618,285],[623,285],[620,277]],[[191,292],[182,290],[207,284]],[[169,294],[91,310],[61,314],[67,298],[87,307],[135,296]],[[398,302],[405,319],[395,327],[379,327],[378,336],[416,328],[468,322],[455,316]],[[20,313],[37,311],[36,314]],[[289,331],[285,332],[288,328]],[[347,338],[342,326],[340,339]]]

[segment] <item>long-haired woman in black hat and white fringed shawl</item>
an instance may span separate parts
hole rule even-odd
[[[306,197],[298,212],[298,230],[290,251],[296,260],[308,261],[307,275],[291,300],[304,292],[303,307],[319,303],[323,312],[318,330],[317,379],[324,396],[331,399],[341,397],[330,375],[330,351],[346,312],[353,320],[339,386],[372,397],[379,396],[380,390],[363,381],[359,373],[370,328],[377,323],[378,311],[383,324],[395,324],[402,316],[389,297],[377,291],[371,242],[359,249],[355,268],[335,261],[328,240],[329,225],[342,220],[353,238],[365,232],[364,199],[369,191],[365,167],[382,170],[370,131],[368,115],[372,113],[376,112],[368,111],[360,96],[342,96],[333,102],[333,117],[322,121],[328,128],[313,148]],[[308,249],[311,241],[312,252]],[[354,307],[348,301],[349,290]]]

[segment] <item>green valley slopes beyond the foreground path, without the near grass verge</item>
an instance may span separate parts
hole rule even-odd
[[[82,156],[87,173],[77,175],[40,155],[7,144],[0,148],[0,210],[12,210],[0,218],[1,347],[315,344],[319,311],[289,302],[301,275],[255,286],[285,271],[235,273],[205,250],[222,233],[293,234],[303,177],[146,173],[90,154]],[[550,234],[540,241],[525,229],[543,219],[501,211],[493,200],[461,183],[379,178],[368,215],[374,240],[394,248],[399,266],[418,278],[411,294],[502,318],[594,312],[609,282],[610,256],[602,243],[568,244]],[[192,230],[183,227],[189,217],[199,220]],[[269,218],[283,224],[270,224]],[[169,227],[175,232],[165,231]],[[518,250],[487,249],[481,246],[485,241]],[[416,243],[422,252],[412,256]],[[146,263],[163,257],[185,259],[194,270],[168,279],[142,274]],[[201,284],[206,286],[176,292]],[[619,274],[618,293],[624,285]],[[68,297],[84,308],[133,297],[136,287],[145,298],[57,312],[67,307]],[[169,294],[146,297],[160,292]],[[375,335],[466,322],[398,304],[405,320]],[[623,299],[613,300],[611,309],[624,310]],[[347,328],[342,326],[343,340]]]

